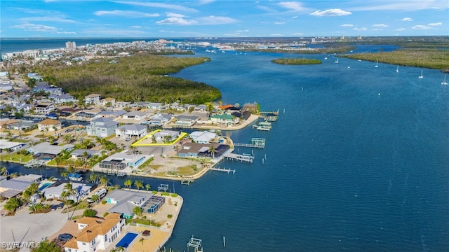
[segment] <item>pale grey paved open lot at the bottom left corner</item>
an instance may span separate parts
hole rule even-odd
[[[46,214],[29,214],[27,208],[15,216],[1,216],[0,244],[2,242],[41,241],[62,228],[67,222],[67,214],[61,209]]]

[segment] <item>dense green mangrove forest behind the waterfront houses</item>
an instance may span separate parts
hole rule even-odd
[[[206,57],[166,57],[136,54],[116,59],[95,59],[67,66],[64,62],[36,65],[44,80],[62,87],[77,99],[100,94],[127,102],[172,102],[203,104],[221,97],[206,83],[167,76],[188,66],[210,61]]]

